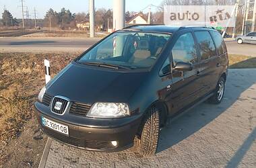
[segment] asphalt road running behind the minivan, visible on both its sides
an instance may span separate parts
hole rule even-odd
[[[100,38],[0,38],[0,52],[81,52]],[[226,41],[229,54],[256,56],[255,44]]]

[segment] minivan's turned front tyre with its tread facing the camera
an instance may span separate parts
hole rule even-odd
[[[143,118],[141,129],[141,138],[138,140],[139,153],[143,156],[154,155],[160,132],[160,114],[156,108],[151,108]]]

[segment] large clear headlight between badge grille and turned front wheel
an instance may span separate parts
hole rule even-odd
[[[93,118],[121,118],[129,116],[129,107],[126,103],[94,103],[87,116]]]

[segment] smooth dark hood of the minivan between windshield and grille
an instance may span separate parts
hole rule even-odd
[[[120,72],[71,62],[46,85],[46,93],[81,103],[125,103],[147,75],[148,72]]]

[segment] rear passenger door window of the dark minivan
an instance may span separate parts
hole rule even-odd
[[[195,32],[195,37],[199,43],[199,49],[201,54],[201,59],[205,60],[211,56],[216,56],[216,50],[214,42],[207,31],[197,31]]]

